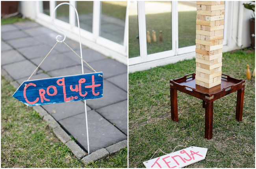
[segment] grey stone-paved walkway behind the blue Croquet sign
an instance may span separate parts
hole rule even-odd
[[[1,66],[9,80],[19,85],[28,79],[56,44],[55,31],[36,22],[1,26]],[[80,54],[78,42],[65,42]],[[127,66],[82,46],[83,59],[97,72],[103,72],[103,97],[87,100],[90,153],[127,140]],[[93,71],[84,64],[84,73]],[[57,44],[41,64],[33,79],[81,74],[81,60],[65,44]],[[3,73],[2,73],[3,74]],[[14,84],[14,83],[12,83]],[[18,86],[17,84],[17,86]],[[15,86],[15,87],[17,87]],[[19,86],[18,86],[19,87]],[[87,151],[83,101],[43,105],[68,135]],[[58,130],[56,130],[58,131]]]

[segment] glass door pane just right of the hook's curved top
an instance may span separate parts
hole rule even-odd
[[[93,32],[93,1],[77,1],[76,10],[79,15],[80,28]],[[76,26],[78,26],[77,18]]]

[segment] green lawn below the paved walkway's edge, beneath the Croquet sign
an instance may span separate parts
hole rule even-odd
[[[1,167],[127,167],[127,148],[89,165],[77,160],[32,107],[27,107],[12,97],[15,90],[2,77]]]

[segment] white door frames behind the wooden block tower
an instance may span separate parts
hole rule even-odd
[[[174,57],[186,53],[195,53],[195,45],[178,48],[178,1],[172,1],[172,50],[147,54],[147,31],[145,17],[145,2],[137,2],[138,9],[138,29],[139,29],[139,51],[140,56],[129,58],[129,66],[145,62]],[[225,2],[224,25],[228,24],[228,3]],[[224,28],[223,46],[227,45],[227,29]],[[171,58],[170,58],[171,59]]]

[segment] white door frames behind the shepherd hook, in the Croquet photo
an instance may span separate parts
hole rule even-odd
[[[76,1],[69,1],[70,4],[76,6]],[[46,26],[50,29],[56,30],[52,25],[52,12],[56,7],[56,1],[50,1],[50,16],[44,13],[41,13],[42,10],[42,1],[37,1],[36,5],[36,22],[39,22],[43,26]],[[57,9],[58,10],[58,9]],[[79,14],[78,14],[79,15]],[[120,61],[124,64],[128,64],[128,5],[126,6],[126,19],[125,19],[125,28],[124,28],[124,42],[123,45],[113,42],[109,39],[100,37],[100,18],[101,18],[101,1],[93,1],[93,32],[86,31],[85,29],[80,28],[81,32],[81,41],[82,44],[96,50],[104,55],[110,56],[117,61]],[[56,18],[54,23],[58,28],[63,29],[66,33],[66,36],[72,40],[79,40],[78,38],[78,27],[76,24],[76,15],[72,6],[69,6],[69,23],[64,22]],[[57,31],[57,30],[56,30]]]

